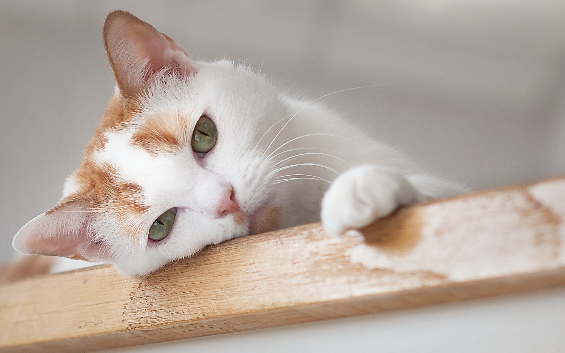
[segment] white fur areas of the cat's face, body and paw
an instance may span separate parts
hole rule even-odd
[[[95,238],[110,248],[110,258],[100,260],[128,276],[249,234],[251,217],[266,204],[282,208],[280,228],[319,221],[321,212],[328,232],[341,234],[402,204],[463,191],[425,173],[320,104],[285,97],[250,69],[227,60],[192,65],[198,70],[189,80],[163,77],[150,86],[142,99],[144,110],[127,128],[107,133],[104,149],[95,154],[95,162],[111,164],[123,181],[140,185],[140,202],[149,206],[141,219],[128,220],[138,229],[134,238],[120,233],[112,212],[92,217]],[[203,114],[214,120],[218,142],[201,161],[190,145],[151,154],[130,143],[151,117],[188,119],[190,136]],[[216,213],[227,188],[233,188],[247,215],[243,224]],[[78,189],[70,176],[64,194]],[[151,224],[169,208],[177,210],[171,233],[150,245]]]

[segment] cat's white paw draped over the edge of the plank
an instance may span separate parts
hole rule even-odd
[[[330,186],[321,204],[321,222],[328,233],[343,234],[418,201],[418,191],[396,169],[363,165],[340,175]]]

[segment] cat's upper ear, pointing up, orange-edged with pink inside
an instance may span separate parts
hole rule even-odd
[[[142,93],[156,74],[195,73],[184,49],[129,12],[116,10],[108,14],[103,39],[120,92],[126,96]]]

